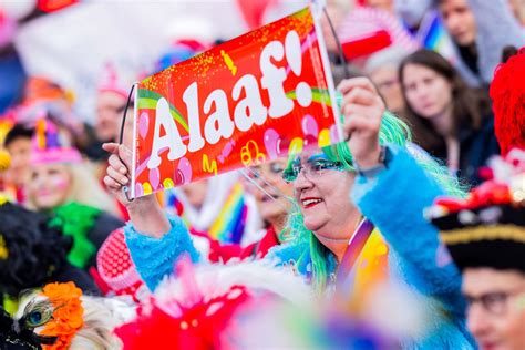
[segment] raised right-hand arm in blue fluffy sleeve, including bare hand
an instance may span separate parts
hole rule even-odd
[[[359,169],[353,202],[388,241],[390,265],[398,267],[397,272],[422,294],[454,305],[461,300],[460,272],[440,244],[437,230],[423,217],[424,208],[443,189],[404,147],[381,151],[384,104],[370,81],[347,80],[339,90],[344,95],[343,130]]]

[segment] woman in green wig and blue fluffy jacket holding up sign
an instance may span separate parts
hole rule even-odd
[[[461,195],[457,184],[424,153],[410,154],[406,125],[385,112],[368,79],[346,80],[338,89],[346,142],[290,159],[284,179],[295,192],[291,241],[265,259],[291,266],[320,294],[334,285],[359,292],[359,286],[388,276],[429,301],[424,306],[430,327],[403,340],[403,348],[473,348],[464,325],[460,272],[423,217],[423,208],[436,196]],[[173,274],[182,255],[193,261],[199,256],[182,220],[166,217],[155,196],[125,199],[121,189],[128,182],[131,152],[116,144],[104,147],[112,153],[104,182],[128,209],[126,243],[153,290]]]

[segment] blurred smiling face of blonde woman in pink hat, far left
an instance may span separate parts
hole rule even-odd
[[[51,209],[65,203],[72,183],[66,165],[33,165],[28,183],[28,196],[38,209]]]

